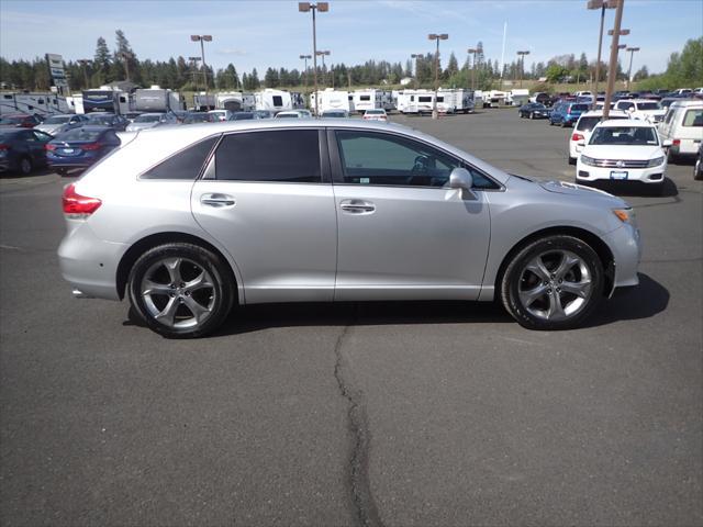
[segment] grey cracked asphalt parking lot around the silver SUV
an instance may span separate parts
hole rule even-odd
[[[392,120],[573,180],[515,110]],[[701,525],[703,183],[637,211],[640,284],[578,330],[458,302],[257,305],[167,340],[57,265],[62,186],[0,179],[2,525]]]

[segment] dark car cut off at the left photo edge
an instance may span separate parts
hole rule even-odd
[[[16,170],[27,176],[46,166],[44,145],[49,141],[52,136],[38,130],[0,128],[0,172]]]

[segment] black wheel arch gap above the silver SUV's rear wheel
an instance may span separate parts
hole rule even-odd
[[[215,254],[219,258],[222,259],[227,266],[227,270],[230,271],[230,278],[234,282],[234,287],[237,291],[237,301],[238,303],[244,303],[244,292],[241,287],[239,280],[237,280],[237,274],[232,267],[232,262],[230,259],[220,250],[217,247],[212,245],[210,242],[194,236],[192,234],[179,233],[179,232],[166,232],[166,233],[156,233],[135,242],[122,256],[120,259],[120,264],[118,265],[118,271],[115,277],[115,283],[118,288],[118,295],[120,300],[124,299],[124,293],[126,290],[127,280],[130,278],[130,271],[132,267],[136,262],[136,260],[147,250],[157,247],[164,244],[174,244],[174,243],[187,243],[192,245],[199,245],[213,254]]]

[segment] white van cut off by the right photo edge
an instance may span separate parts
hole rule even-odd
[[[671,141],[669,161],[693,158],[703,141],[703,101],[677,101],[659,123],[659,135]]]

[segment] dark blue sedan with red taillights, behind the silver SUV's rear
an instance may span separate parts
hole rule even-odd
[[[54,137],[46,145],[46,159],[51,168],[65,176],[69,170],[94,165],[120,143],[113,128],[86,125]]]

